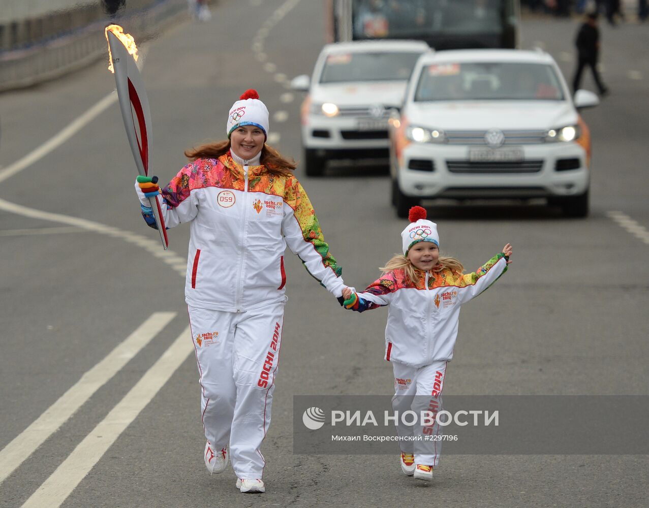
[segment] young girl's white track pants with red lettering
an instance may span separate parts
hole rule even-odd
[[[414,411],[418,416],[421,411],[434,414],[442,407],[442,390],[446,376],[447,361],[435,361],[424,367],[410,367],[393,362],[395,372],[395,396],[392,398],[392,409],[402,415],[405,411]],[[408,422],[413,418],[406,418]],[[442,429],[437,420],[432,426],[419,424],[406,425],[399,416],[397,420],[397,435],[401,451],[415,454],[415,464],[437,466],[441,454],[442,442],[437,441],[442,435]],[[421,441],[413,441],[411,437],[421,436]]]

